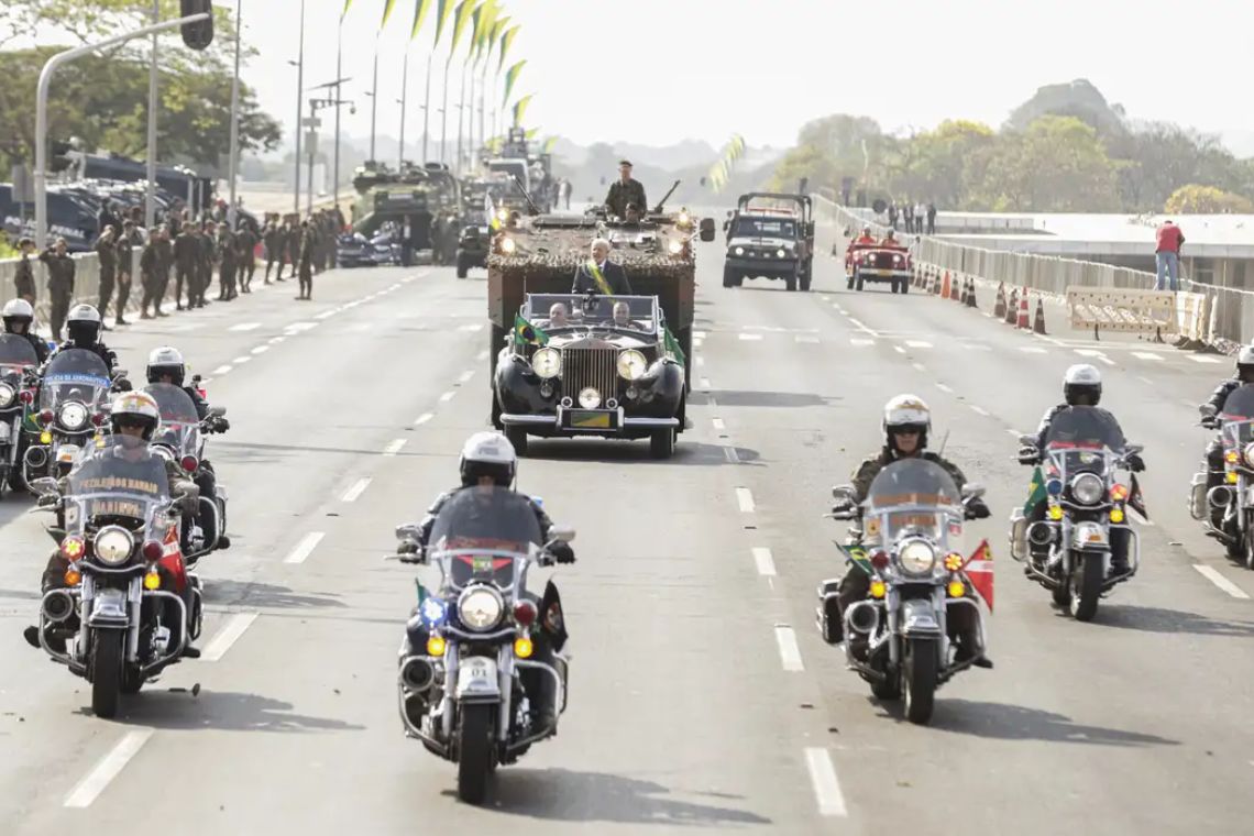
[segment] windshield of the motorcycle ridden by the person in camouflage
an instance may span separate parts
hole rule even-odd
[[[907,535],[938,545],[962,534],[962,493],[944,468],[925,459],[888,465],[867,491],[864,543],[888,549]]]

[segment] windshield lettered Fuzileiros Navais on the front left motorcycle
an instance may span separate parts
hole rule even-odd
[[[143,439],[103,436],[87,446],[70,471],[65,498],[70,533],[89,523],[132,529],[150,524],[158,508],[171,501],[166,464]]]

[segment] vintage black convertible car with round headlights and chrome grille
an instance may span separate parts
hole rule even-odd
[[[683,360],[653,296],[528,293],[497,357],[493,424],[519,455],[529,435],[648,439],[683,431]]]

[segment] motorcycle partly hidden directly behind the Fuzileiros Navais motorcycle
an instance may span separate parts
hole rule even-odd
[[[199,377],[194,377],[197,382]],[[144,391],[153,396],[161,410],[161,427],[153,436],[152,446],[157,455],[176,462],[187,479],[196,481],[202,469],[209,465],[204,461],[204,435],[211,430],[214,419],[226,415],[226,409],[214,406],[202,421],[192,397],[181,386],[173,384],[148,384]],[[227,491],[221,481],[214,480],[216,496],[201,495],[192,525],[183,533],[183,554],[188,565],[217,545],[227,531]]]

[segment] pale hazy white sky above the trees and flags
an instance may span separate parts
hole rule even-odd
[[[231,5],[216,0],[219,5]],[[295,119],[300,0],[242,0],[262,55],[245,70],[262,104]],[[1136,118],[1206,130],[1254,130],[1240,95],[1254,74],[1244,49],[1249,0],[503,0],[523,25],[509,61],[534,91],[528,127],[579,143],[788,145],[814,117],[848,112],[888,129],[947,117],[999,124],[1048,83],[1090,79]],[[371,61],[384,0],[352,0],[344,26],[345,129],[370,132]],[[379,133],[396,135],[401,58],[414,0],[398,0],[379,39]],[[306,86],[335,76],[342,0],[306,0]],[[434,16],[434,11],[433,11]],[[421,132],[434,21],[411,45],[409,138]],[[435,61],[439,107],[445,43]],[[495,66],[493,59],[492,66]],[[458,64],[454,64],[454,69]],[[450,104],[460,74],[450,84]],[[325,125],[332,112],[326,110]],[[450,114],[455,135],[455,112]],[[439,134],[439,114],[433,113]]]

